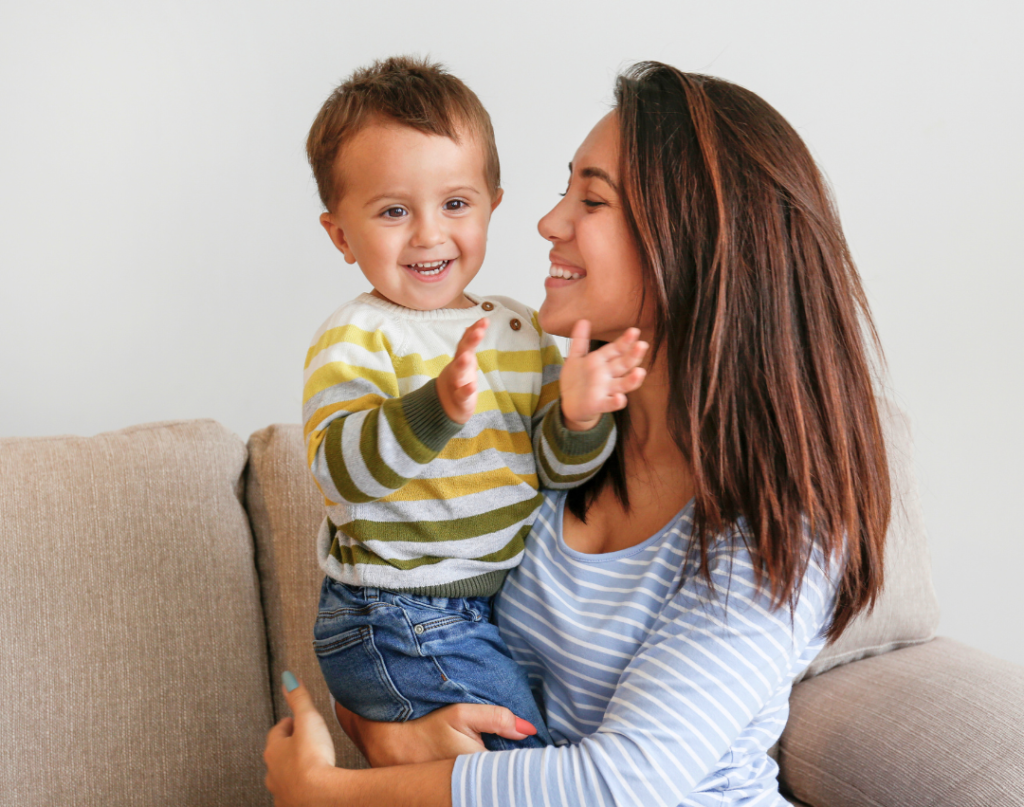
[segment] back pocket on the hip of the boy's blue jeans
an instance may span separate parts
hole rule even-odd
[[[413,715],[413,705],[388,675],[374,644],[374,629],[361,625],[313,640],[321,671],[335,699],[369,720],[400,722]]]

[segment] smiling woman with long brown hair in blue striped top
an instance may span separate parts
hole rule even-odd
[[[542,325],[651,345],[614,457],[549,496],[497,603],[556,746],[452,759],[521,736],[489,707],[342,714],[372,762],[415,764],[335,769],[298,687],[264,755],[279,805],[785,804],[766,752],[873,602],[889,518],[877,338],[820,174],[753,93],[645,62],[540,230]]]

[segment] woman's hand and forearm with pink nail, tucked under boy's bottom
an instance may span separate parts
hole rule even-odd
[[[485,751],[480,734],[523,739],[537,733],[503,707],[455,704],[408,723],[380,723],[335,705],[338,722],[375,768],[453,759]]]

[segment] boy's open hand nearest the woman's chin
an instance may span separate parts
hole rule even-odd
[[[647,352],[640,331],[630,328],[614,342],[593,353],[590,350],[590,323],[580,320],[572,326],[569,354],[559,379],[562,422],[572,431],[594,428],[605,412],[626,407],[626,393],[637,389],[647,371],[639,367]]]

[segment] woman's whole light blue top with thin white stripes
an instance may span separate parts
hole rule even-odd
[[[767,751],[824,645],[835,589],[820,553],[796,611],[772,611],[739,532],[709,549],[715,593],[697,574],[692,503],[600,555],[565,545],[564,504],[546,494],[497,602],[555,747],[459,757],[455,807],[785,807]]]

